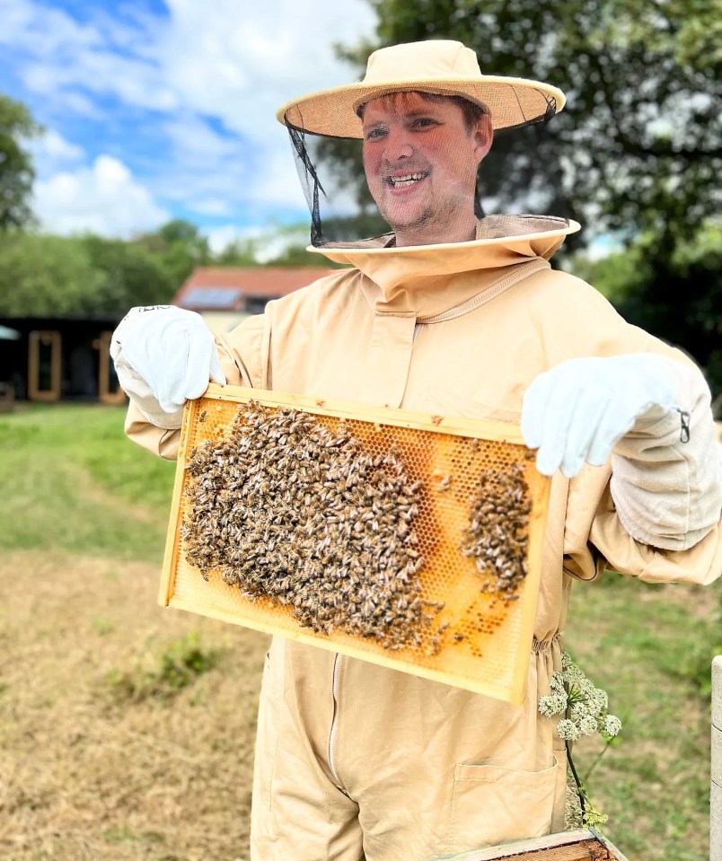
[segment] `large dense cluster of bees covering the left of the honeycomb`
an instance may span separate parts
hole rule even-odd
[[[231,435],[190,452],[181,540],[189,563],[251,600],[288,606],[318,633],[420,645],[414,522],[420,483],[393,449],[374,457],[341,423],[242,405]]]

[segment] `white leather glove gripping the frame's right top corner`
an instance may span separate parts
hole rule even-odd
[[[647,353],[570,359],[541,373],[524,396],[522,434],[538,449],[543,475],[568,479],[584,463],[602,466],[634,427],[676,409],[676,387],[665,359]]]

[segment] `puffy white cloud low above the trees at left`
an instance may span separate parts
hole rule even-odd
[[[52,233],[121,237],[153,230],[170,218],[126,165],[109,155],[96,158],[92,167],[37,182],[35,212]]]

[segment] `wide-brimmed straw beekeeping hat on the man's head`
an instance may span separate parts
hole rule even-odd
[[[363,81],[289,101],[277,111],[277,118],[315,135],[361,138],[358,108],[402,91],[462,96],[483,107],[494,128],[549,119],[565,101],[564,93],[549,83],[482,75],[476,54],[461,42],[428,40],[374,51]]]

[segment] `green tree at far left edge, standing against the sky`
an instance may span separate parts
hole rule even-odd
[[[0,232],[32,221],[30,198],[35,171],[26,141],[40,133],[31,112],[20,101],[0,93]]]

